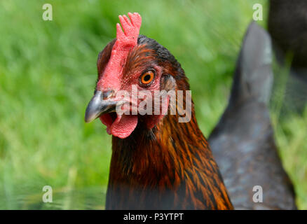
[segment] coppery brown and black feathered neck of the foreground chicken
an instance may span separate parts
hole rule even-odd
[[[195,117],[113,137],[106,209],[232,209]]]

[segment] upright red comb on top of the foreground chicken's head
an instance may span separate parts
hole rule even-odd
[[[126,15],[118,16],[121,25],[116,24],[116,42],[113,45],[111,57],[104,70],[104,75],[97,83],[97,90],[108,87],[114,90],[118,89],[118,80],[121,78],[125,59],[129,51],[137,45],[142,18],[139,13],[128,13],[128,16],[130,20]],[[121,26],[123,29],[121,29]]]

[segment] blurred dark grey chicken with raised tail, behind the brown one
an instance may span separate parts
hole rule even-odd
[[[296,209],[267,108],[271,58],[271,39],[253,22],[243,41],[228,106],[209,137],[235,209]],[[262,203],[253,200],[258,186]]]

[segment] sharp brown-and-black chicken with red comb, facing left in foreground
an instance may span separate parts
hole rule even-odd
[[[100,118],[113,135],[106,209],[233,209],[193,102],[189,106],[185,100],[184,70],[166,48],[139,35],[138,13],[128,16],[119,16],[123,30],[117,24],[116,39],[100,52],[95,94],[85,116],[86,122]],[[142,90],[149,92],[141,97],[147,102],[155,90],[173,90],[175,104],[170,95],[161,97],[160,113],[142,114],[136,110],[141,101],[132,99]],[[188,107],[191,115],[179,123]],[[174,108],[177,113],[170,114]]]

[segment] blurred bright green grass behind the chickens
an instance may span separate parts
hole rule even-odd
[[[53,21],[42,20],[43,3],[52,4]],[[177,57],[208,136],[227,104],[254,3],[263,4],[266,27],[264,0],[1,1],[0,209],[104,209],[111,137],[83,116],[97,55],[116,36],[119,14],[140,13],[140,33]],[[307,111],[280,119],[278,96],[276,141],[299,208],[307,209]],[[41,202],[46,185],[53,203]]]

